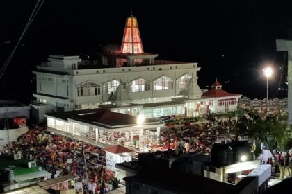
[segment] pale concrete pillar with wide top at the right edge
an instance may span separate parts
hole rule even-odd
[[[292,124],[292,41],[277,39],[277,51],[288,51],[288,124]]]

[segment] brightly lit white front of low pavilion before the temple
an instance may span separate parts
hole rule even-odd
[[[84,113],[90,114],[90,113]],[[82,114],[81,114],[82,115]],[[120,127],[106,127],[97,122],[81,122],[74,118],[58,118],[46,114],[48,130],[74,139],[86,141],[99,148],[122,145],[126,148],[143,148],[147,143],[158,141],[163,123],[148,125],[121,125]]]

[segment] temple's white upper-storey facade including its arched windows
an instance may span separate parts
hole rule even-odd
[[[59,63],[58,60],[55,61],[55,58],[62,59],[64,62]],[[33,96],[37,98],[38,103],[53,105],[55,111],[57,111],[57,107],[68,111],[96,108],[99,105],[111,103],[111,92],[115,92],[120,82],[126,83],[125,89],[132,103],[171,101],[171,98],[179,96],[181,91],[178,83],[179,78],[186,75],[196,76],[197,71],[200,70],[197,63],[104,69],[61,69],[57,67],[65,64],[66,58],[64,56],[51,56],[49,58],[51,61],[38,66],[38,70],[33,71],[37,79],[37,89]],[[74,58],[78,64],[79,57]],[[72,60],[70,61],[72,62]],[[167,79],[170,81],[166,82]],[[136,88],[133,87],[133,84],[129,85],[129,83],[140,80],[147,82],[147,90],[145,90],[144,83],[137,85]],[[156,84],[158,81],[163,82],[162,86]],[[85,87],[89,89],[84,89]],[[137,113],[139,111],[136,110]]]

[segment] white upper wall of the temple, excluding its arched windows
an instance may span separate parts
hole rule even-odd
[[[75,105],[102,104],[107,102],[111,98],[111,94],[104,94],[104,84],[111,80],[118,80],[126,83],[138,78],[148,80],[150,83],[150,91],[129,93],[129,97],[132,100],[177,96],[180,91],[180,89],[177,88],[177,78],[180,78],[186,73],[197,78],[197,71],[200,70],[196,63],[82,70],[60,70],[51,67],[38,67],[38,69],[55,70],[59,72],[64,71],[68,73],[68,75],[63,76],[53,73],[34,72],[37,75],[37,93],[68,98],[65,111],[75,109]],[[173,80],[173,89],[161,91],[153,90],[153,81],[161,76],[166,76]],[[63,80],[65,80],[65,82]],[[100,84],[101,95],[77,96],[77,86],[85,82]],[[35,97],[38,98],[38,100],[40,98],[47,100],[47,104],[49,105],[64,107],[64,105],[58,105],[59,103],[64,104],[64,100],[39,95]]]

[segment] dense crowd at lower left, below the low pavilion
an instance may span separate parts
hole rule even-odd
[[[44,180],[70,173],[79,177],[78,181],[83,183],[85,192],[106,193],[117,188],[115,173],[106,169],[106,152],[81,141],[39,128],[29,130],[16,141],[8,143],[1,152],[2,155],[17,153],[24,159],[36,161],[38,166],[51,173],[51,177],[44,177]]]

